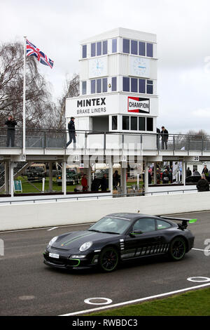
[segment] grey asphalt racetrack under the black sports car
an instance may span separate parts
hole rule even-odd
[[[210,241],[210,211],[175,216],[198,219],[189,226],[195,235],[194,249],[183,260],[150,257],[123,263],[110,274],[57,270],[43,264],[43,251],[52,237],[90,225],[0,232],[4,242],[0,315],[78,315],[202,284],[210,286],[210,256],[204,253],[204,243]],[[189,281],[192,277],[196,282]]]

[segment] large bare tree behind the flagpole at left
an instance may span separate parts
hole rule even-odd
[[[38,72],[38,61],[27,58],[26,126],[43,127],[54,105],[50,103],[50,89]],[[0,46],[0,125],[8,114],[22,124],[23,103],[23,46],[20,42]]]

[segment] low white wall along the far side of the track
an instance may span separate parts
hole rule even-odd
[[[0,231],[92,223],[109,213],[151,215],[205,211],[210,192],[0,206]]]

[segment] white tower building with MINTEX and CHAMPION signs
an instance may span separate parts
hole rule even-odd
[[[80,96],[66,99],[76,130],[156,133],[156,35],[117,28],[80,43]]]

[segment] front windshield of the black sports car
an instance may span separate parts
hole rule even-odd
[[[89,230],[109,234],[123,234],[130,227],[130,221],[121,218],[104,217],[94,223]]]

